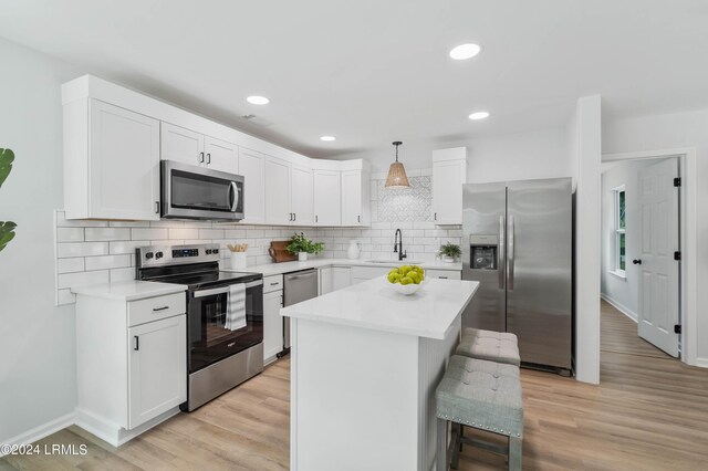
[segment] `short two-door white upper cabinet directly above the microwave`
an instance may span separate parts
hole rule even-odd
[[[200,133],[162,123],[160,158],[236,174],[238,146]]]

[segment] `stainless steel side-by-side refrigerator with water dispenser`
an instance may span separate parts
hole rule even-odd
[[[462,279],[480,282],[462,326],[511,332],[522,363],[570,374],[571,179],[465,185],[462,201]]]

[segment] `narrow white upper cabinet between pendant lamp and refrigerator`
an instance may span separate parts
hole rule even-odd
[[[433,222],[462,223],[462,185],[467,182],[467,147],[433,150]]]

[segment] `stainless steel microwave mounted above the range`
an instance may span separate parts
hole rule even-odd
[[[239,221],[243,219],[243,177],[174,160],[160,163],[162,217]]]

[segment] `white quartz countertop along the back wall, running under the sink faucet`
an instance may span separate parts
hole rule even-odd
[[[415,260],[414,260],[415,261]],[[263,276],[273,275],[273,274],[283,274],[290,272],[296,272],[299,270],[308,270],[308,269],[321,269],[325,266],[379,266],[379,268],[393,268],[400,266],[406,264],[412,264],[409,261],[404,260],[399,262],[398,260],[386,260],[381,262],[372,262],[366,260],[352,260],[352,259],[313,259],[308,260],[306,262],[281,262],[281,263],[268,263],[264,265],[256,265],[256,266],[247,266],[244,269],[233,270],[229,268],[229,261],[222,260],[222,265],[226,268],[221,268],[222,271],[226,272],[253,272],[253,273],[262,273]],[[449,270],[449,271],[461,271],[462,263],[446,263],[446,262],[423,262],[416,263],[421,266],[424,270]]]

